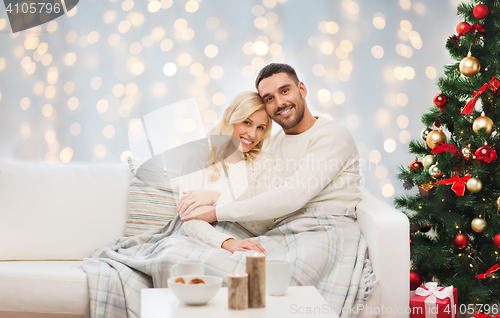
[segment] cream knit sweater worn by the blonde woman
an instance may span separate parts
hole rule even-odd
[[[221,163],[217,163],[219,168]],[[225,204],[235,200],[244,200],[263,193],[272,187],[272,180],[276,177],[274,161],[265,152],[261,152],[254,162],[244,160],[235,164],[228,163],[228,175],[226,177],[222,168],[220,177],[211,181],[212,169],[202,169],[183,176],[179,179],[179,195],[188,190],[204,189],[221,193],[216,204]],[[231,193],[232,192],[232,193]],[[266,233],[274,224],[274,219],[261,221],[238,222],[246,230],[255,236]],[[194,237],[213,247],[221,247],[222,243],[233,236],[219,232],[205,221],[191,220],[181,226],[184,235]]]

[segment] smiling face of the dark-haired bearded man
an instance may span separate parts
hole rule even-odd
[[[266,110],[283,129],[295,127],[304,118],[307,90],[304,83],[295,84],[287,73],[277,73],[263,79],[258,86]]]

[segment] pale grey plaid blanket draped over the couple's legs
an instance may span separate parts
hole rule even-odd
[[[290,285],[316,286],[340,317],[352,317],[349,308],[368,298],[375,277],[355,213],[332,210],[302,209],[253,239],[266,249],[266,258],[290,260]],[[141,289],[168,287],[171,266],[179,260],[203,260],[205,273],[222,277],[223,286],[229,273],[245,271],[245,252],[231,253],[186,237],[180,225],[176,216],[161,230],[110,242],[84,260],[91,317],[140,317]],[[214,226],[238,239],[251,237],[237,223]]]

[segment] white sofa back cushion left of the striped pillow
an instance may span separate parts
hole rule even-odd
[[[0,160],[0,260],[82,260],[123,236],[125,164]]]

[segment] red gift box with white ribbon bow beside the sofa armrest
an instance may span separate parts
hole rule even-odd
[[[438,287],[429,282],[415,290],[410,298],[411,318],[456,318],[457,289]]]

